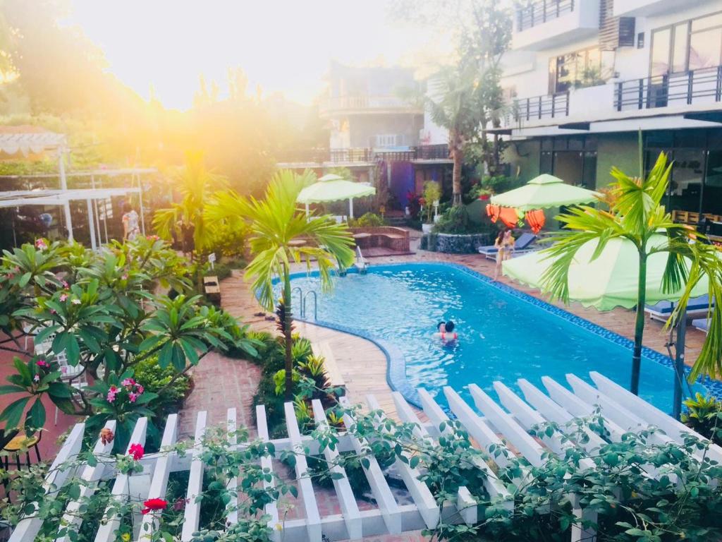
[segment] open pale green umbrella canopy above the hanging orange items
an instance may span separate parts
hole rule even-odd
[[[562,179],[544,173],[524,186],[492,196],[491,202],[501,207],[531,211],[593,202],[599,195],[599,192],[566,184]]]

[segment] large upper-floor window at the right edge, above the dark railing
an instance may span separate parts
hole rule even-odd
[[[687,72],[722,64],[722,12],[678,22],[652,32],[651,75]]]

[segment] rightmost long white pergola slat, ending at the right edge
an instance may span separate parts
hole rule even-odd
[[[705,439],[704,436],[700,435],[696,431],[693,431],[684,425],[684,423],[675,420],[655,406],[647,403],[643,399],[640,399],[637,395],[625,390],[625,388],[616,382],[612,382],[612,380],[606,378],[603,374],[591,371],[589,376],[591,376],[591,379],[594,381],[594,384],[596,384],[596,387],[598,387],[599,390],[604,392],[608,397],[617,401],[617,403],[620,403],[621,405],[627,405],[630,409],[638,413],[640,418],[643,418],[644,421],[657,426],[659,429],[671,436],[672,439],[677,440],[677,442],[684,442],[685,434],[696,436],[697,439]],[[707,450],[707,454],[710,459],[716,460],[718,463],[722,463],[722,447],[719,447],[717,444],[711,444]]]

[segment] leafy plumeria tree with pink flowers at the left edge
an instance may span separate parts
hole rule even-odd
[[[6,429],[45,424],[43,397],[100,430],[118,420],[118,442],[157,395],[134,380],[151,356],[181,377],[212,349],[254,353],[223,311],[187,296],[187,262],[152,236],[102,251],[39,239],[0,262],[0,348],[20,354],[0,393],[17,395],[0,414]],[[173,288],[173,299],[158,292]],[[170,383],[169,383],[170,385]],[[28,408],[28,406],[30,408]],[[119,445],[121,445],[119,444]]]

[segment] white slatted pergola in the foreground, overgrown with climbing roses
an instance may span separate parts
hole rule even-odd
[[[609,430],[612,441],[619,441],[622,434],[628,431],[639,431],[648,429],[650,426],[656,426],[664,431],[664,434],[655,434],[653,438],[657,442],[682,442],[684,434],[694,434],[687,426],[682,425],[670,416],[661,412],[652,405],[645,403],[639,397],[632,395],[630,392],[615,384],[599,373],[592,372],[591,379],[596,387],[584,382],[583,380],[570,374],[567,375],[567,382],[570,384],[571,390],[554,382],[554,380],[544,377],[543,383],[547,393],[542,392],[539,388],[527,382],[525,379],[519,379],[518,384],[522,390],[523,398],[510,390],[501,382],[495,382],[494,387],[497,395],[500,397],[501,405],[497,405],[492,398],[482,391],[477,385],[471,384],[469,391],[474,400],[474,407],[467,404],[451,387],[445,387],[443,392],[448,401],[449,408],[456,416],[458,421],[464,426],[474,441],[487,451],[490,447],[500,447],[504,453],[495,455],[495,462],[498,466],[503,467],[509,463],[510,457],[515,454],[521,454],[531,465],[540,465],[543,461],[542,455],[545,452],[554,452],[560,455],[565,453],[565,447],[569,446],[569,441],[562,438],[561,434],[552,434],[552,436],[544,436],[540,440],[534,439],[529,435],[529,429],[538,423],[552,421],[559,424],[560,431],[565,430],[565,423],[575,417],[589,416],[594,413],[596,408],[600,409],[601,416],[604,417],[606,428]],[[425,390],[419,390],[419,397],[423,406],[425,416],[430,420],[429,423],[419,421],[416,411],[412,408],[404,397],[398,392],[393,393],[393,401],[396,405],[396,411],[401,421],[409,423],[417,423],[416,436],[421,439],[431,439],[435,442],[440,436],[439,427],[441,423],[448,420],[448,416],[442,408],[435,402],[431,395]],[[375,397],[367,397],[367,403],[373,410],[378,409],[378,403]],[[481,415],[479,415],[481,413]],[[310,454],[316,455],[320,452],[318,442],[314,442],[310,436],[300,433],[295,413],[291,403],[285,405],[287,434],[284,439],[274,439],[277,457],[284,450],[297,449],[303,452],[308,449]],[[326,423],[326,416],[323,412],[321,403],[313,402],[313,414],[316,422],[323,425]],[[256,415],[258,419],[258,438],[264,441],[269,440],[269,433],[266,422],[266,413],[263,406],[256,407]],[[382,420],[378,420],[380,423]],[[354,423],[350,416],[346,416],[344,422],[347,426]],[[195,442],[199,444],[204,438],[206,431],[205,412],[199,412],[196,418]],[[227,412],[227,429],[229,432],[235,431],[236,411],[231,408]],[[110,421],[107,425],[108,429],[115,429],[115,422]],[[147,421],[145,418],[136,423],[131,442],[145,442],[147,429]],[[445,429],[448,431],[449,429]],[[120,499],[135,499],[143,501],[153,497],[165,497],[168,486],[168,476],[170,473],[179,470],[188,470],[188,489],[186,496],[189,499],[185,509],[185,522],[183,523],[183,532],[181,541],[191,539],[192,533],[203,527],[199,525],[200,504],[195,502],[195,497],[201,491],[203,486],[204,465],[197,457],[196,450],[188,455],[181,457],[175,453],[157,453],[146,455],[141,463],[144,466],[142,473],[134,473],[132,475],[118,475],[112,464],[108,463],[107,454],[110,451],[110,444],[97,442],[94,453],[103,455],[103,462],[99,461],[97,465],[83,465],[79,472],[69,472],[69,470],[58,470],[58,465],[64,464],[71,460],[79,452],[84,424],[78,423],[71,431],[61,451],[58,453],[51,474],[45,482],[46,491],[50,491],[53,486],[62,486],[69,476],[82,476],[87,481],[111,480],[113,482],[113,495]],[[570,431],[571,432],[571,431]],[[695,434],[696,435],[696,434]],[[165,424],[165,430],[162,436],[162,447],[168,447],[175,444],[178,436],[178,416],[173,414],[168,416]],[[699,437],[699,435],[697,435]],[[574,434],[567,435],[569,438],[576,438]],[[596,434],[588,434],[588,442],[583,444],[588,451],[593,452],[604,445],[604,441],[596,436]],[[701,437],[700,437],[701,438]],[[230,442],[231,445],[243,446]],[[336,450],[325,449],[323,454],[326,460],[333,461],[339,452],[356,451],[360,452],[365,447],[364,442],[360,442],[355,436],[344,434],[339,438],[339,445]],[[707,451],[708,457],[713,460],[722,462],[722,448],[712,446]],[[340,514],[322,515],[319,511],[316,493],[313,489],[313,483],[306,474],[308,465],[303,455],[297,456],[295,464],[295,476],[297,478],[297,486],[299,489],[300,508],[303,517],[300,519],[284,520],[279,518],[279,511],[276,503],[268,504],[266,514],[271,517],[269,526],[273,529],[274,539],[277,542],[321,542],[322,537],[328,541],[340,540],[357,540],[362,537],[375,535],[398,535],[400,533],[419,530],[422,528],[432,528],[438,524],[441,519],[453,522],[466,522],[469,525],[477,522],[477,506],[474,498],[466,488],[458,491],[457,501],[455,503],[447,503],[442,509],[436,505],[432,494],[425,485],[418,480],[419,472],[411,468],[404,462],[396,461],[396,470],[399,472],[401,479],[406,485],[406,489],[412,497],[412,504],[400,504],[397,502],[393,491],[388,486],[386,478],[378,465],[377,461],[370,459],[370,464],[364,468],[369,486],[373,493],[376,507],[373,509],[360,510],[354,494],[354,488],[344,472],[344,469],[338,465],[334,467],[337,473],[342,474],[341,478],[334,480],[334,491],[341,509]],[[591,460],[586,466],[593,468]],[[270,457],[264,457],[261,460],[264,468],[273,468]],[[478,468],[487,473],[487,482],[485,489],[492,498],[500,496],[509,496],[506,487],[494,475],[490,465],[483,461],[479,461]],[[521,476],[526,476],[522,473]],[[230,487],[235,486],[235,479],[229,483]],[[266,482],[271,485],[272,482]],[[84,486],[82,488],[82,496],[91,494],[94,486]],[[574,495],[568,498],[573,505],[575,515],[578,517],[587,517],[587,511],[580,507]],[[227,520],[230,524],[238,521],[238,512],[232,508],[234,502],[230,502],[227,507],[229,512]],[[511,502],[508,502],[511,507]],[[77,516],[72,512],[78,509],[77,502],[71,502],[66,508],[66,520],[68,522],[77,522]],[[146,515],[138,518],[134,539],[136,541],[147,540],[148,533],[158,528],[154,523],[152,515]],[[589,515],[588,519],[593,520],[593,515]],[[96,542],[112,542],[116,539],[114,531],[118,528],[118,517],[111,517],[106,513],[105,522],[97,531],[95,536]],[[30,542],[35,539],[41,528],[41,520],[36,517],[25,517],[19,522],[17,528],[12,533],[10,542]],[[594,533],[587,532],[581,528],[575,527],[572,530],[570,540],[572,542],[593,541]],[[64,540],[63,538],[58,538]]]

